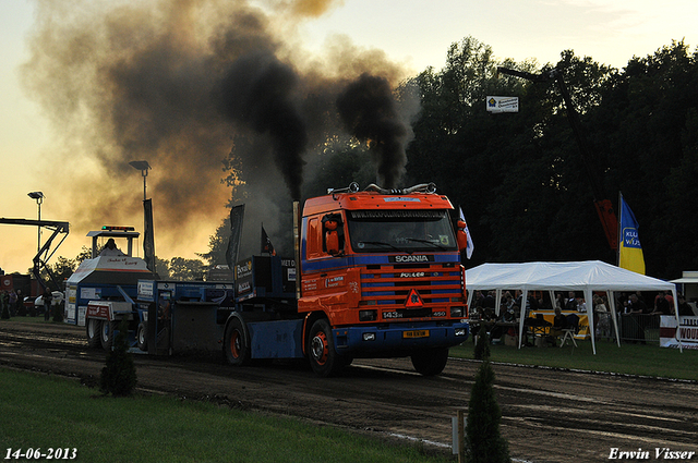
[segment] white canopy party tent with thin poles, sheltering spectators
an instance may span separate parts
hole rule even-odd
[[[674,314],[678,321],[678,302],[676,287],[657,278],[646,277],[630,270],[612,266],[600,260],[578,263],[525,263],[525,264],[483,264],[466,270],[468,306],[472,302],[473,291],[496,291],[496,300],[502,301],[503,290],[521,290],[522,301],[527,301],[529,291],[549,291],[551,301],[555,301],[554,291],[582,291],[588,304],[587,316],[591,332],[591,345],[597,353],[593,327],[591,296],[594,291],[605,291],[609,295],[611,314],[615,314],[614,291],[671,291],[674,296]],[[498,305],[497,305],[498,313]],[[519,317],[519,348],[524,337],[526,304],[521,304]],[[617,318],[612,316],[615,337],[621,345]],[[679,344],[681,345],[681,344]]]

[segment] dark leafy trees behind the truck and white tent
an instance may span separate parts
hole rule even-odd
[[[586,161],[557,86],[497,75],[497,66],[562,73],[590,146]],[[543,66],[497,60],[491,47],[466,37],[448,48],[443,69],[405,81],[395,97],[408,93],[418,93],[421,111],[402,184],[434,182],[456,210],[462,208],[476,246],[467,267],[590,259],[615,265],[593,206],[597,182],[605,197],[595,199],[611,199],[617,214],[622,192],[635,212],[647,275],[672,279],[698,269],[698,51],[683,41],[634,57],[618,70],[573,50]],[[485,97],[492,95],[518,97],[519,111],[488,112]],[[368,149],[349,137],[333,139],[303,197],[352,181],[375,182]],[[234,153],[225,170],[228,184],[238,185],[232,205],[244,195],[245,178]],[[226,219],[200,257],[225,264],[228,235]],[[197,278],[205,270],[198,259],[159,261],[158,271],[170,278]],[[70,264],[79,261],[59,258],[56,266]]]

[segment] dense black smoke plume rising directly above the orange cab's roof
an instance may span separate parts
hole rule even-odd
[[[337,109],[349,133],[369,143],[382,186],[397,187],[407,162],[408,129],[397,111],[388,81],[361,74],[339,95]]]

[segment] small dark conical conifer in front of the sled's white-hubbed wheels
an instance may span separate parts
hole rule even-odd
[[[107,354],[107,365],[99,376],[99,389],[113,397],[131,395],[136,383],[135,364],[129,353],[129,322],[121,320],[113,350]]]

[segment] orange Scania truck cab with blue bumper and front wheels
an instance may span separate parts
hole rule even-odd
[[[468,336],[450,210],[431,184],[350,187],[305,202],[298,312],[316,373],[360,356],[411,356],[424,375],[443,370],[448,348]]]

